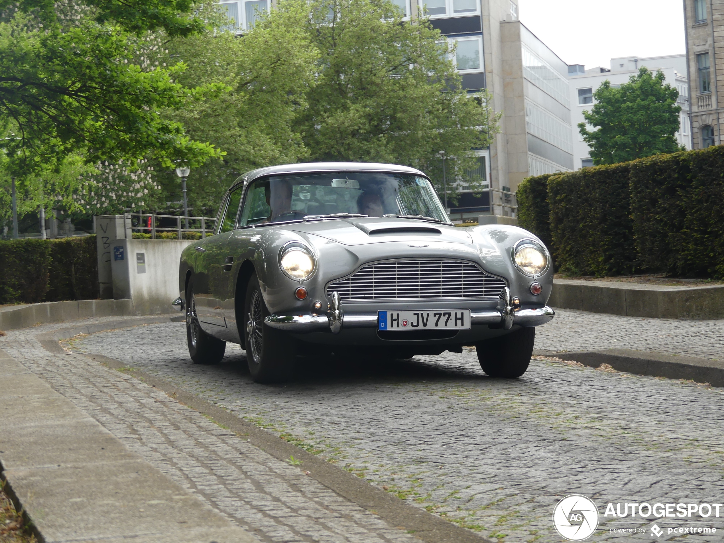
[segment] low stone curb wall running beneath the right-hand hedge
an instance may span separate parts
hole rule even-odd
[[[664,287],[555,279],[548,305],[653,319],[724,319],[724,285]]]

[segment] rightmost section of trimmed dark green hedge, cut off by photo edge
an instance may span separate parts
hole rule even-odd
[[[724,277],[724,146],[631,163],[641,264],[689,277]]]

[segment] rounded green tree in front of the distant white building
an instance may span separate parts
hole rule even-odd
[[[584,111],[589,130],[578,130],[591,147],[594,164],[618,164],[657,153],[678,151],[674,134],[679,130],[681,107],[678,90],[665,83],[661,71],[642,67],[628,83],[615,88],[606,80],[594,93],[596,104]]]

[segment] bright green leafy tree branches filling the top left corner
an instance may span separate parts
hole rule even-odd
[[[191,7],[190,0],[0,0],[0,127],[8,132],[9,172],[57,171],[70,153],[91,163],[150,154],[202,164],[219,156],[159,115],[219,88],[175,83],[183,64],[144,71],[129,58],[148,29],[202,30]]]

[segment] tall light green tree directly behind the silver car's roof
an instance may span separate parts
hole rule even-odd
[[[311,160],[408,164],[440,185],[439,151],[455,158],[448,180],[474,167],[473,149],[489,145],[499,116],[486,93],[463,90],[438,30],[403,21],[387,0],[287,0],[269,18],[291,31],[300,11],[321,55],[295,122]]]

